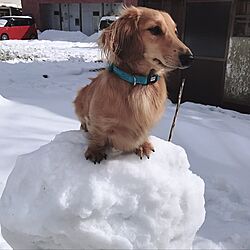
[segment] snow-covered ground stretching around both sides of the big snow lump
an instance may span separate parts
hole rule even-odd
[[[103,67],[95,62],[100,59],[96,43],[86,39],[0,41],[0,195],[18,155],[79,128],[72,100],[96,75],[89,69]],[[168,137],[174,109],[167,104],[153,135]],[[249,115],[181,106],[173,142],[186,150],[191,170],[206,185],[206,220],[194,248],[250,248],[249,128]],[[7,248],[3,238],[0,248]]]

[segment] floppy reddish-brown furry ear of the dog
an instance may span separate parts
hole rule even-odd
[[[120,59],[129,62],[143,55],[138,30],[140,15],[138,8],[126,8],[121,17],[103,31],[99,45],[109,61]]]

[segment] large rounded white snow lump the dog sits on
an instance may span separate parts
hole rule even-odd
[[[84,159],[83,132],[22,155],[0,202],[2,234],[21,249],[191,249],[204,221],[204,182],[185,151],[150,137],[155,153]]]

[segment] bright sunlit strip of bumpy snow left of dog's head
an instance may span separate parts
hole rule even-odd
[[[93,62],[100,59],[100,52],[94,42],[65,42],[11,40],[1,42],[0,60],[9,63],[18,62],[55,62],[55,61],[81,61]],[[86,54],[86,50],[88,53]]]

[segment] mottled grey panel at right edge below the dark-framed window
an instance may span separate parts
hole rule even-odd
[[[249,37],[232,37],[230,39],[224,101],[250,106]]]

